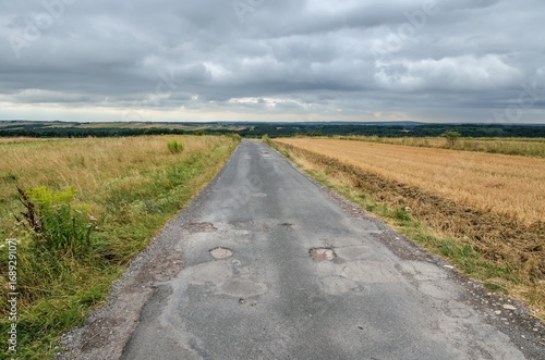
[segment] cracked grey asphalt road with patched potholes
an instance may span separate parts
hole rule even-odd
[[[183,269],[155,284],[122,359],[524,359],[451,270],[400,256],[395,236],[243,141],[178,232]]]

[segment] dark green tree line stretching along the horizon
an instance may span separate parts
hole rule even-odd
[[[416,124],[416,125],[365,125],[365,124],[254,124],[210,126],[195,129],[175,127],[53,127],[13,125],[0,127],[0,137],[129,137],[146,135],[230,135],[244,138],[292,136],[379,136],[379,137],[436,137],[446,132],[457,132],[462,137],[545,137],[545,125],[502,124]]]

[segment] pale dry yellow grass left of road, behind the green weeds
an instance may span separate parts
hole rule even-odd
[[[0,141],[0,225],[7,228],[10,211],[19,206],[15,186],[24,189],[47,186],[52,190],[73,187],[78,198],[98,198],[100,188],[116,181],[119,186],[146,182],[155,172],[208,151],[226,138],[178,136],[186,151],[173,156],[167,141],[172,137],[108,139],[2,139]],[[2,232],[0,231],[0,232]],[[1,234],[1,233],[0,233]],[[4,234],[1,234],[4,235]]]

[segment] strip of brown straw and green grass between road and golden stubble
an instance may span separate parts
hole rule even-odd
[[[524,228],[306,149],[268,142],[317,182],[448,259],[491,291],[525,302],[544,320],[544,228]]]

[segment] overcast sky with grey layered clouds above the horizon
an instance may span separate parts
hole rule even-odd
[[[543,0],[0,0],[0,119],[545,123]]]

